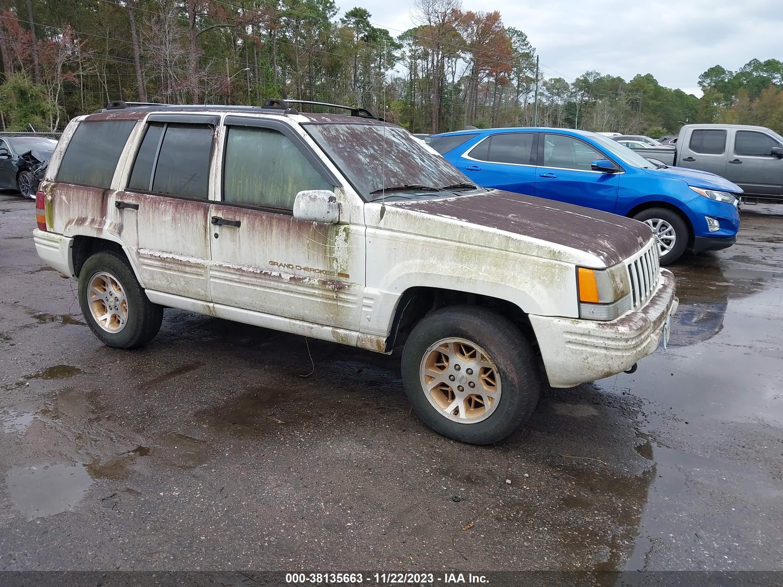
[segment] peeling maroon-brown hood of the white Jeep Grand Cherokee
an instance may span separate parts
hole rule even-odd
[[[561,257],[568,262],[597,257],[606,267],[630,257],[652,238],[649,227],[632,218],[499,189],[473,196],[386,205],[482,227],[475,236],[476,244],[488,245],[491,239],[487,232],[511,233],[530,239],[539,251],[550,243],[550,249],[565,247],[575,253],[546,254],[547,257]],[[460,238],[464,236],[460,234]]]

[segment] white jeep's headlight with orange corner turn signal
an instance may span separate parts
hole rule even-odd
[[[631,309],[630,282],[625,265],[608,269],[576,269],[579,317],[614,320]]]

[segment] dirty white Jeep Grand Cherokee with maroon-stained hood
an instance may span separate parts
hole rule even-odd
[[[105,344],[145,344],[164,308],[404,344],[417,414],[478,444],[542,384],[635,366],[677,309],[646,225],[482,189],[366,110],[112,103],[70,122],[36,208]]]

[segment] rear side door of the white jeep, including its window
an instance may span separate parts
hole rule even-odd
[[[209,177],[219,117],[151,115],[114,214],[148,290],[209,301]]]

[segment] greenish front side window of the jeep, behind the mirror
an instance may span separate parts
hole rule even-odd
[[[223,165],[223,201],[294,209],[303,189],[328,189],[326,182],[285,135],[268,128],[229,127]]]

